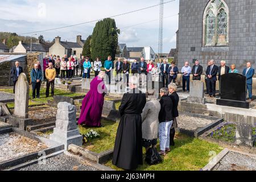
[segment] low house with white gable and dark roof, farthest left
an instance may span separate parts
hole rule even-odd
[[[32,52],[43,53],[43,56],[46,56],[49,54],[49,47],[51,47],[51,45],[51,43],[42,43],[40,40],[37,40],[36,43],[32,43],[32,45],[20,41],[18,46],[13,47],[13,52],[27,53],[32,50]]]

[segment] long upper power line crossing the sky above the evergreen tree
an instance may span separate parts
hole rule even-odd
[[[176,0],[167,1],[167,2],[164,2],[163,4],[167,4],[167,3],[170,3],[170,2],[174,2],[174,1],[176,1]],[[156,6],[160,6],[160,5],[162,5],[162,4],[159,3],[158,5],[148,6],[148,7],[144,7],[143,9],[138,9],[138,10],[134,10],[134,11],[129,11],[129,12],[122,13],[122,14],[118,14],[118,15],[113,15],[113,16],[110,16],[110,17],[108,17],[108,18],[114,18],[114,17],[117,17],[117,16],[122,16],[122,15],[126,15],[126,14],[131,14],[131,13],[135,13],[135,12],[137,12],[137,11],[142,11],[142,10],[150,9],[150,8],[152,8],[152,7],[156,7]],[[51,29],[47,29],[47,30],[40,30],[40,31],[34,31],[34,32],[27,32],[27,33],[22,33],[22,34],[18,34],[18,35],[36,34],[36,33],[46,32],[46,31],[51,31],[51,30],[59,30],[59,29],[62,29],[62,28],[68,28],[68,27],[79,26],[79,25],[81,25],[81,24],[88,24],[88,23],[98,22],[98,21],[100,21],[100,20],[102,20],[102,19],[104,19],[104,18],[97,19],[97,20],[91,20],[91,21],[89,21],[89,22],[84,22],[84,23],[72,24],[72,25],[64,26],[64,27],[57,27],[57,28],[51,28]]]

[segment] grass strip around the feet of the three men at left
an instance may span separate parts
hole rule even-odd
[[[7,92],[7,93],[13,93],[13,89],[0,89],[0,92]],[[51,90],[50,90],[51,93]],[[67,96],[67,97],[76,97],[76,96],[82,96],[84,94],[80,93],[72,93],[61,89],[54,89],[55,96]],[[51,94],[50,94],[51,95]],[[30,104],[32,105],[34,102],[34,105],[37,104],[46,104],[48,100],[53,101],[53,97],[46,97],[46,88],[40,89],[40,98],[32,99],[32,89],[30,88],[30,94],[29,94]]]

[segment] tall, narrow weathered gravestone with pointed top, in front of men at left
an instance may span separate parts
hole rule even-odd
[[[14,114],[10,116],[8,123],[22,130],[26,130],[28,125],[32,125],[32,119],[28,118],[29,92],[27,76],[25,73],[21,73],[15,85]]]

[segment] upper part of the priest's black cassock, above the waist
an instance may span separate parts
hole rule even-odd
[[[124,114],[141,114],[146,102],[146,94],[138,89],[133,89],[123,94],[119,114],[121,117]]]

